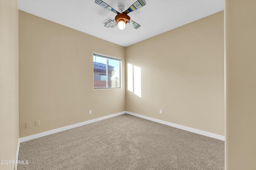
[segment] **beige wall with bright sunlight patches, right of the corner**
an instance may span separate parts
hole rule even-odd
[[[142,91],[126,111],[224,135],[223,11],[126,47],[127,63]]]

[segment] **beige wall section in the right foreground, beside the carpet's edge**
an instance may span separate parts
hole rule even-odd
[[[256,170],[256,1],[225,1],[226,170]]]

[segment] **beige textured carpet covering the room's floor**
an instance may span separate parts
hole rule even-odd
[[[224,170],[224,141],[120,115],[20,144],[18,170]]]

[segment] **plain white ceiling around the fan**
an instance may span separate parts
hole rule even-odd
[[[224,0],[145,0],[146,5],[130,12],[130,24],[124,30],[106,28],[102,22],[116,14],[94,3],[95,0],[18,0],[18,9],[127,47],[134,43],[180,27],[224,10]],[[128,9],[136,0],[103,0],[118,11]]]

